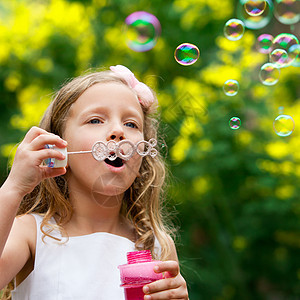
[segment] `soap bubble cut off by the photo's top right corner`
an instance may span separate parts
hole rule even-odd
[[[300,20],[299,0],[275,0],[274,15],[279,22],[286,25],[296,24]]]

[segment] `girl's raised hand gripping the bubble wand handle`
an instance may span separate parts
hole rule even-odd
[[[54,144],[59,148],[67,146],[59,136],[32,127],[17,149],[7,184],[22,197],[32,192],[43,179],[66,173],[65,168],[54,169],[42,165],[43,160],[50,157],[64,159],[64,155],[59,151],[45,149],[46,144]]]

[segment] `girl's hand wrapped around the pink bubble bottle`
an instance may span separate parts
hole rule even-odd
[[[145,300],[182,299],[188,300],[188,291],[184,278],[179,272],[177,261],[164,261],[154,267],[156,273],[164,273],[164,279],[157,280],[143,287]]]

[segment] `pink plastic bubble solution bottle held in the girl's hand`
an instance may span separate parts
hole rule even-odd
[[[127,264],[119,266],[121,287],[124,287],[126,300],[143,300],[143,286],[163,278],[162,273],[153,270],[158,262],[152,260],[150,250],[127,253]]]

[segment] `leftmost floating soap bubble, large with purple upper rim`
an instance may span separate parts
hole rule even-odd
[[[145,11],[136,11],[126,20],[126,42],[130,49],[137,52],[149,51],[161,33],[158,19]]]

